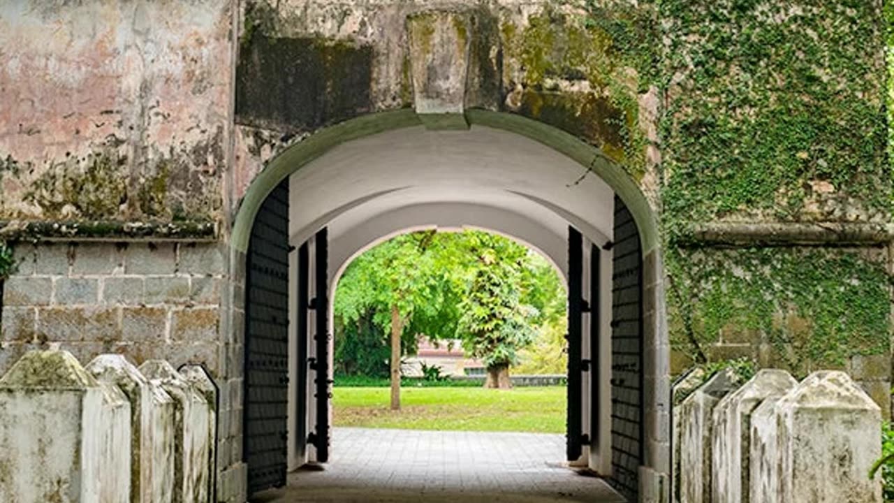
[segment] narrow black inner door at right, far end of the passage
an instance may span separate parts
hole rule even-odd
[[[581,393],[583,374],[583,316],[589,311],[583,292],[584,274],[583,235],[574,227],[568,228],[568,417],[566,418],[566,454],[569,461],[577,461],[586,442],[582,425]]]

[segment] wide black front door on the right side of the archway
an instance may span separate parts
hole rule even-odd
[[[615,196],[611,274],[611,482],[637,501],[643,461],[643,253],[637,224]]]

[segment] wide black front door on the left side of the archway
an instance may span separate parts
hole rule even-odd
[[[249,494],[285,484],[289,393],[289,184],[261,205],[245,286],[243,456]]]

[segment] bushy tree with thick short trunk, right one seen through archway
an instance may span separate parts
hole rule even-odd
[[[475,266],[460,309],[463,345],[485,362],[485,388],[510,388],[509,367],[535,337],[537,311],[521,303],[527,248],[493,234],[471,233],[468,251]]]

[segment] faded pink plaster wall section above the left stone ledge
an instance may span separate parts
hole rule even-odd
[[[0,7],[0,219],[217,219],[230,2]]]

